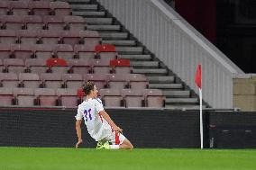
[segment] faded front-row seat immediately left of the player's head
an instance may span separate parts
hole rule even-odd
[[[78,90],[76,88],[59,88],[56,94],[59,97],[60,105],[66,107],[78,107]]]

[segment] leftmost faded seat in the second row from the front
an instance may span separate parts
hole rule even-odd
[[[5,88],[18,87],[19,80],[15,73],[0,73],[1,86]]]

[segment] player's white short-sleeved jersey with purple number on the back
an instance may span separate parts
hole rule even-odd
[[[98,98],[90,98],[78,105],[77,120],[84,118],[88,133],[99,141],[111,134],[111,126],[98,113],[104,111],[102,102]]]

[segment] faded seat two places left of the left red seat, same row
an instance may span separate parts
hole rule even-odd
[[[4,65],[9,73],[23,73],[26,68],[21,58],[5,58]]]

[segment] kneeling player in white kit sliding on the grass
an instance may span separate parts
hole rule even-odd
[[[83,142],[81,121],[84,118],[88,133],[98,142],[96,148],[132,149],[132,143],[123,136],[123,130],[114,124],[114,121],[105,112],[101,100],[97,98],[96,85],[93,82],[87,82],[83,91],[87,98],[86,101],[78,105],[76,116],[78,143],[76,148]]]

